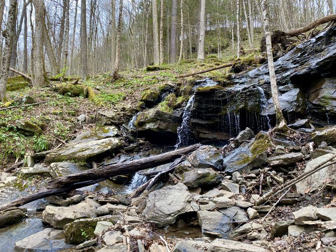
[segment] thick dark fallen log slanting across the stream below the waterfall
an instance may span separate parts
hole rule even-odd
[[[191,145],[185,148],[177,149],[174,151],[162,153],[147,158],[138,160],[111,164],[103,168],[90,169],[67,176],[58,177],[48,181],[47,188],[58,188],[67,186],[73,183],[95,180],[99,178],[109,178],[112,176],[122,175],[125,173],[135,172],[139,170],[148,169],[158,165],[169,163],[181,155],[187,155],[200,147],[200,144]]]

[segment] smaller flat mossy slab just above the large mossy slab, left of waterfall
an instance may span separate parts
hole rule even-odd
[[[104,138],[113,138],[120,135],[120,131],[115,126],[100,126],[79,134],[72,143],[90,142]]]

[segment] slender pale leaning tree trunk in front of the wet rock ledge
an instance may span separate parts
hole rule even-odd
[[[268,13],[267,13],[266,6],[267,6],[266,0],[262,0],[262,15],[264,18],[263,23],[264,23],[264,31],[265,31],[265,37],[266,37],[268,71],[269,71],[269,79],[270,79],[271,93],[272,93],[272,99],[273,99],[273,106],[274,106],[274,111],[275,111],[275,116],[276,116],[276,125],[279,127],[283,127],[283,125],[286,125],[287,122],[281,110],[281,107],[279,104],[279,97],[277,95],[276,76],[275,76],[273,53],[272,53],[272,41],[271,41],[271,35],[269,31]]]

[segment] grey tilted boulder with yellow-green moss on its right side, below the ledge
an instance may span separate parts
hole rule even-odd
[[[266,150],[270,147],[268,137],[258,134],[251,143],[244,143],[223,159],[225,171],[248,172],[267,163]]]

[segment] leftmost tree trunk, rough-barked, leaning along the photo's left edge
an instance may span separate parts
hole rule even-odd
[[[3,31],[5,37],[5,51],[4,57],[1,63],[0,69],[0,100],[5,101],[6,98],[6,86],[8,81],[8,71],[10,67],[10,58],[12,54],[13,39],[15,36],[15,24],[16,24],[16,8],[17,1],[11,0],[8,9],[8,20],[6,29]]]

